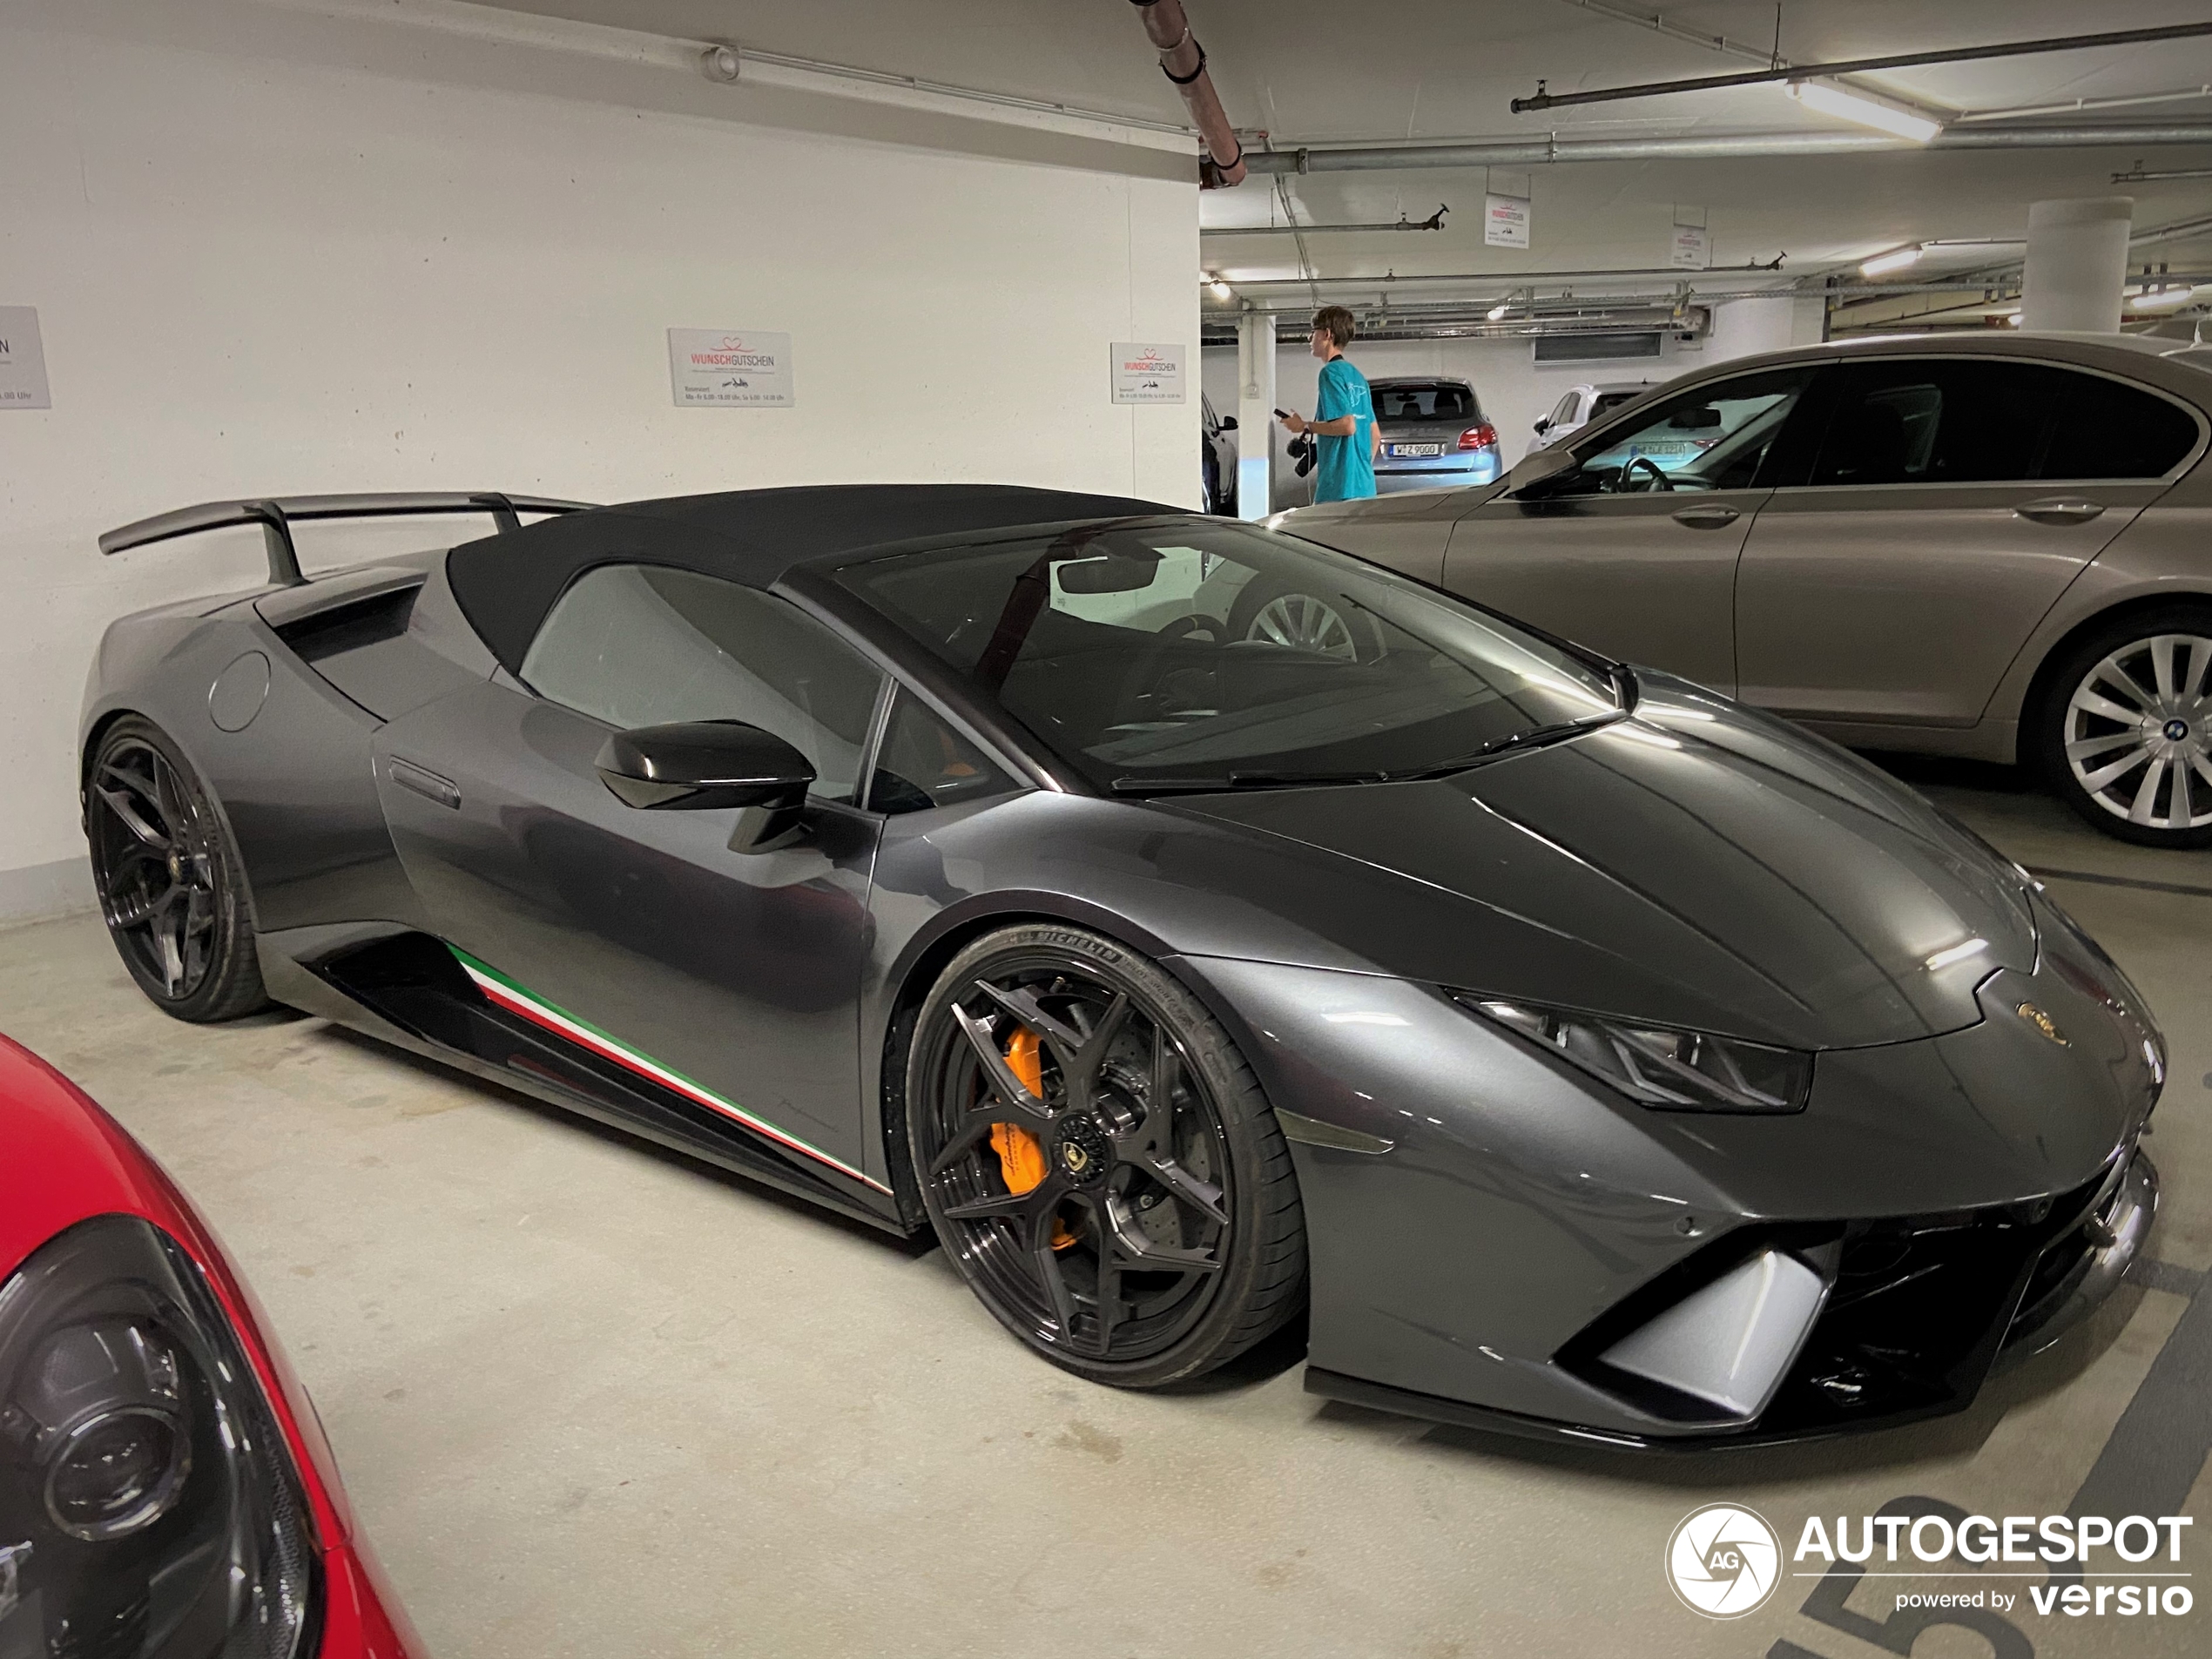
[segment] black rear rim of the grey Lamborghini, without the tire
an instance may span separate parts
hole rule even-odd
[[[93,772],[100,911],[131,958],[179,1002],[215,967],[215,852],[177,770],[150,743],[117,743]]]

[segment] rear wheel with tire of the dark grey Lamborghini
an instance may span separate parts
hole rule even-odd
[[[212,1024],[268,1006],[230,827],[153,721],[126,714],[100,737],[84,834],[108,938],[161,1013]]]

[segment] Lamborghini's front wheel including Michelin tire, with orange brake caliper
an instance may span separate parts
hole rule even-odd
[[[1053,1365],[1161,1387],[1305,1305],[1283,1133],[1228,1033],[1155,962],[1075,927],[1000,929],[945,969],[907,1053],[929,1223],[982,1305]],[[1033,1135],[1026,1170],[1006,1126]]]

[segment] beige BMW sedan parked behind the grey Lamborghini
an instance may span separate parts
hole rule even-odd
[[[1632,398],[1491,487],[1283,524],[1854,748],[2037,765],[2093,825],[2194,847],[2208,434],[2212,376],[2168,341],[1832,343]]]

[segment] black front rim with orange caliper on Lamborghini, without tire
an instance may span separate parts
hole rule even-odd
[[[1035,1033],[1040,1093],[1009,1068]],[[931,1055],[925,1181],[987,1301],[1033,1340],[1141,1360],[1186,1336],[1228,1263],[1228,1141],[1166,1022],[1066,967],[995,969],[947,1009]],[[1015,1190],[993,1130],[1042,1150]]]

